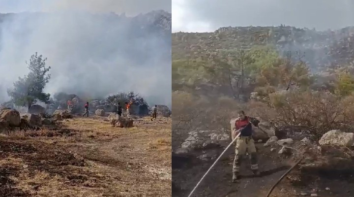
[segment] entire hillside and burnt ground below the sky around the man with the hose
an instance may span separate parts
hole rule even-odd
[[[194,197],[353,197],[353,44],[352,27],[173,33],[173,196],[204,177]],[[239,110],[260,121],[252,131],[260,175],[249,152],[238,155],[235,183]]]

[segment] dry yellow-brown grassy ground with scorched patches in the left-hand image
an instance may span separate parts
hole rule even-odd
[[[75,117],[0,135],[1,197],[169,197],[171,118]]]

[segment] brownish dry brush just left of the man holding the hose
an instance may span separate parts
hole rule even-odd
[[[177,148],[193,130],[229,130],[230,119],[243,106],[228,97],[205,98],[184,92],[172,94],[173,149]],[[228,131],[226,131],[228,132]]]

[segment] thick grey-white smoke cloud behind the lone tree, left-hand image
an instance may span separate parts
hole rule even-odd
[[[71,7],[68,0],[55,2],[76,8],[82,1],[70,0]],[[154,24],[156,16],[170,14],[98,13],[107,3],[93,0],[81,11],[42,8],[51,12],[0,15],[0,102],[9,99],[7,88],[28,73],[25,61],[38,52],[51,66],[45,92],[52,96],[62,91],[94,99],[134,91],[149,105],[171,106],[171,27]]]

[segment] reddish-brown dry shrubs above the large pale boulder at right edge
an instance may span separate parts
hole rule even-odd
[[[354,123],[354,96],[341,98],[329,92],[283,91],[269,95],[270,113],[278,125],[306,126],[324,133]]]

